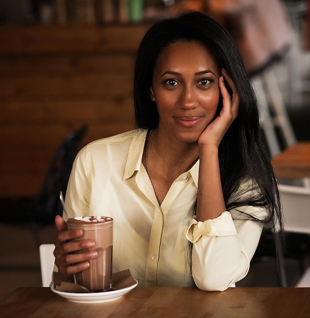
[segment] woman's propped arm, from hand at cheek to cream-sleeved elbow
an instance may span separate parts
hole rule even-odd
[[[199,137],[199,180],[197,214],[188,239],[193,242],[192,274],[203,290],[225,290],[243,278],[257,247],[261,227],[254,221],[233,221],[227,211],[220,174],[219,145],[238,116],[239,98],[235,86],[223,70],[219,87],[223,108]],[[224,79],[232,89],[230,96]],[[243,207],[247,213],[264,214],[265,209]]]

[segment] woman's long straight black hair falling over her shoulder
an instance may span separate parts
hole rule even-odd
[[[150,99],[152,75],[163,49],[175,42],[198,41],[212,52],[220,69],[232,78],[239,97],[239,113],[219,147],[223,195],[227,209],[251,205],[266,207],[268,216],[262,221],[282,233],[281,204],[269,160],[261,139],[258,105],[252,84],[246,75],[239,50],[229,33],[205,14],[187,11],[154,24],[143,37],[137,52],[134,77],[136,123],[153,129],[159,123],[156,103]],[[222,107],[219,102],[219,108]],[[256,195],[237,196],[244,180],[253,181]],[[255,219],[246,215],[249,219]]]

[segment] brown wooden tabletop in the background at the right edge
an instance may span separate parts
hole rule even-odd
[[[310,142],[298,142],[272,158],[277,178],[310,177]]]

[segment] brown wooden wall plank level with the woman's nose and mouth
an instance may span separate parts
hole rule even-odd
[[[125,120],[134,115],[132,92],[118,96],[41,97],[1,99],[1,124],[48,123],[86,120],[87,122]],[[1,136],[0,136],[1,138]]]

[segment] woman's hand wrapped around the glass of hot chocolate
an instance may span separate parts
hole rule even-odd
[[[68,230],[67,223],[59,215],[55,218],[55,225],[59,231],[54,249],[55,264],[58,267],[58,272],[65,277],[70,277],[73,274],[87,269],[89,267],[88,261],[97,258],[97,251],[91,250],[83,253],[72,252],[92,248],[95,246],[95,242],[92,240],[71,242],[70,240],[81,237],[83,231]]]

